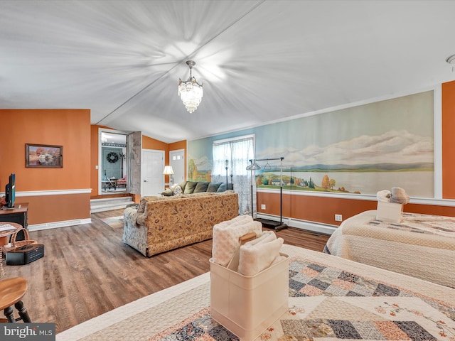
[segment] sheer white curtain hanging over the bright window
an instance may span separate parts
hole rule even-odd
[[[239,214],[251,215],[251,195],[253,195],[253,214],[255,214],[256,183],[252,180],[252,171],[247,171],[250,160],[255,158],[254,136],[213,142],[212,181],[226,182],[226,167],[228,182],[234,186],[239,196]],[[253,186],[253,188],[251,188]]]

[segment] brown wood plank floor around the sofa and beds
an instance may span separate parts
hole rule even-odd
[[[23,297],[32,322],[55,323],[62,332],[97,315],[209,271],[211,239],[151,258],[122,242],[123,227],[102,222],[123,210],[92,214],[90,224],[30,232],[45,246],[42,259],[6,266],[6,278],[28,281]],[[285,244],[322,251],[328,236],[288,228]]]

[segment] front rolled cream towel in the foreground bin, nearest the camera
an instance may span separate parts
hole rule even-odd
[[[281,259],[279,250],[284,240],[277,238],[273,231],[265,231],[261,237],[240,247],[238,272],[243,276],[255,276]]]

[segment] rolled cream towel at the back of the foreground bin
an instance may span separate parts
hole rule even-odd
[[[255,232],[262,235],[262,224],[255,222],[250,215],[239,215],[232,220],[220,222],[213,227],[212,261],[228,266],[230,259],[240,245],[239,238]]]

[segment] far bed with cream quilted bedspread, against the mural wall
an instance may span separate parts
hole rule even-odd
[[[455,287],[454,217],[403,212],[400,222],[385,222],[365,211],[341,223],[324,252]]]

